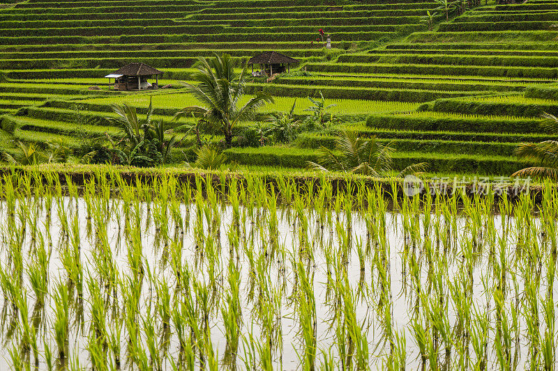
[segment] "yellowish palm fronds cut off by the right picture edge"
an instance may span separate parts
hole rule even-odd
[[[541,116],[546,118],[541,126],[547,129],[550,134],[558,134],[558,118],[546,112]],[[521,143],[515,153],[518,157],[534,162],[536,166],[522,168],[511,176],[548,177],[552,180],[558,180],[558,141]]]

